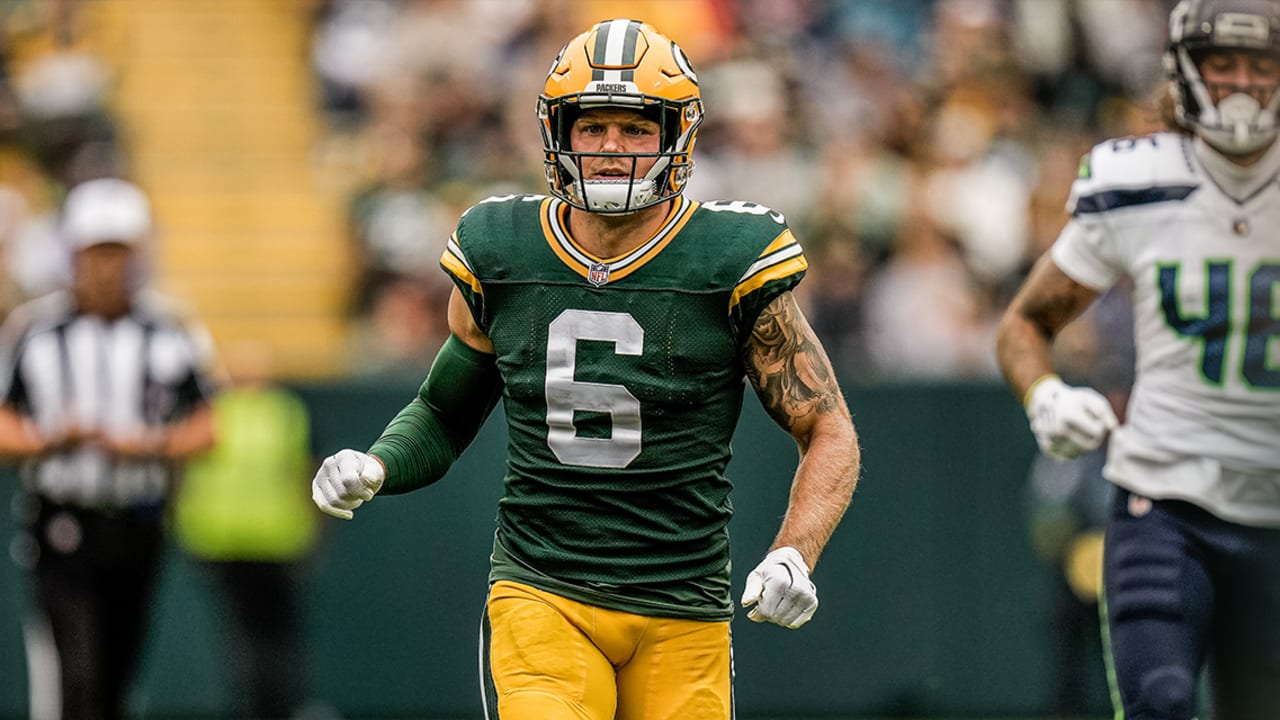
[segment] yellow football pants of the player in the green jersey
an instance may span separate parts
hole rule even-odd
[[[731,720],[728,623],[648,618],[500,580],[489,661],[502,720]]]

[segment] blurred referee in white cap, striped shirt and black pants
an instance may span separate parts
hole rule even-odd
[[[182,459],[214,443],[207,334],[143,290],[146,195],[116,178],[63,206],[73,283],[0,328],[0,455],[20,461],[32,717],[124,715]]]

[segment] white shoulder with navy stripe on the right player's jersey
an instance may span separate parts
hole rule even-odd
[[[1202,178],[1183,136],[1170,132],[1120,137],[1080,160],[1068,210],[1073,215],[1187,199]]]

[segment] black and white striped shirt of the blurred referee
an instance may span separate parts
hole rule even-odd
[[[81,314],[69,292],[55,292],[15,309],[0,329],[0,404],[46,437],[74,428],[129,438],[177,420],[210,400],[212,368],[207,332],[150,291],[114,320]],[[174,466],[78,447],[31,460],[22,473],[28,489],[54,502],[125,509],[163,502]]]

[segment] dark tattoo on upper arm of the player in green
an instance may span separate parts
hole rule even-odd
[[[831,361],[790,293],[760,313],[746,354],[746,374],[782,427],[791,429],[810,414],[840,406]]]

